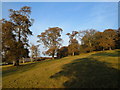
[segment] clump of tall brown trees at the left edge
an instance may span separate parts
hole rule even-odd
[[[2,60],[13,61],[19,65],[19,59],[28,57],[28,35],[32,35],[33,19],[30,18],[31,8],[22,7],[20,10],[9,10],[9,20],[2,19]]]

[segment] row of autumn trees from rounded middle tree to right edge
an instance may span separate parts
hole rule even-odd
[[[53,58],[54,56],[62,58],[68,55],[120,48],[120,29],[106,29],[103,32],[94,29],[72,31],[66,34],[69,37],[69,45],[61,47],[62,31],[59,27],[53,27],[38,35],[38,42],[48,48],[45,54]]]

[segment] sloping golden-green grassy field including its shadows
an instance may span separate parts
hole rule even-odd
[[[116,88],[120,50],[3,67],[3,88]]]

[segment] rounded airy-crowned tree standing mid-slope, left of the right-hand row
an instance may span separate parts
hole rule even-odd
[[[53,59],[57,53],[57,49],[61,46],[62,31],[63,30],[59,27],[53,27],[45,30],[45,32],[42,32],[40,35],[37,36],[39,38],[38,42],[43,43],[43,45],[48,48],[45,53],[49,56],[52,56]]]

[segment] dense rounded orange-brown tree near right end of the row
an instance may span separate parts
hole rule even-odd
[[[104,32],[96,32],[94,37],[94,44],[96,50],[105,50],[115,48],[116,30],[106,29]]]

